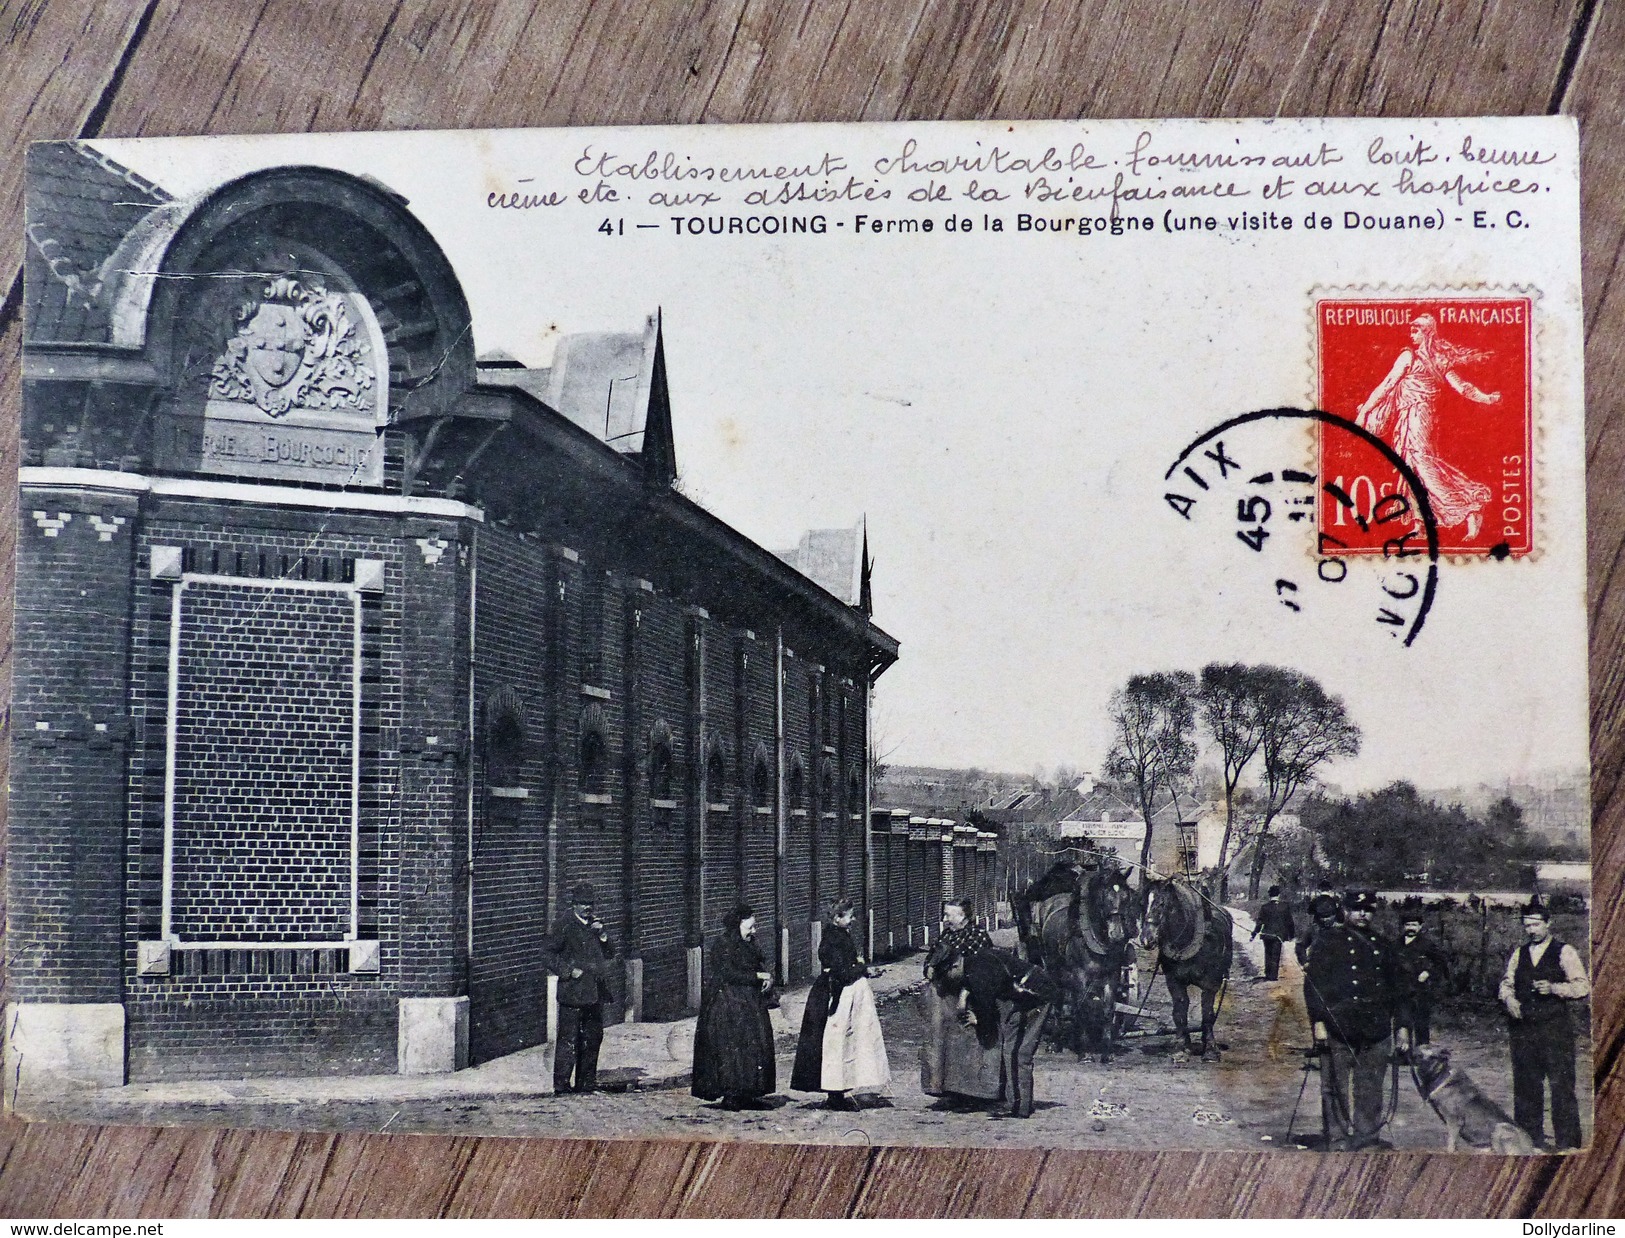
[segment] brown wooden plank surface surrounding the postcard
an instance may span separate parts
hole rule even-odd
[[[20,143],[28,138],[980,117],[1580,117],[1597,947],[1597,1137],[1583,1157],[954,1152],[0,1121],[0,1217],[1625,1210],[1617,1149],[1625,578],[1615,582],[1625,557],[1625,0],[0,0],[0,132],[11,138],[0,162],[6,486],[16,468]],[[13,518],[6,507],[5,598]],[[0,614],[6,638],[10,627]]]

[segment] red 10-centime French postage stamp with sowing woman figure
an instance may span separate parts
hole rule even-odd
[[[1534,549],[1529,297],[1445,296],[1315,302],[1320,554],[1425,552],[1415,491],[1438,552]]]

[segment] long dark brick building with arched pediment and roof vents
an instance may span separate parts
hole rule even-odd
[[[806,980],[897,642],[861,543],[674,489],[658,320],[481,361],[377,182],[28,174],[8,1080],[535,1045],[578,881],[611,1017],[689,1009],[738,898]]]

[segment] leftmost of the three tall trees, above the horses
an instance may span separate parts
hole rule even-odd
[[[1152,812],[1157,794],[1176,793],[1196,764],[1196,676],[1190,671],[1134,674],[1112,694],[1115,736],[1105,772],[1139,798],[1146,835],[1141,869],[1150,864]]]

